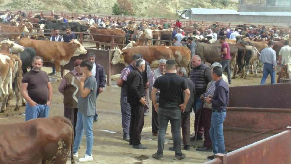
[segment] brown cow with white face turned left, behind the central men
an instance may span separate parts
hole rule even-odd
[[[158,61],[159,59],[172,59],[173,53],[169,47],[166,46],[141,46],[131,47],[125,50],[115,49],[111,64],[124,63],[125,66],[132,62],[134,54],[141,54],[143,59],[149,64]]]

